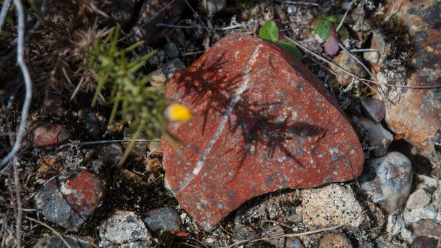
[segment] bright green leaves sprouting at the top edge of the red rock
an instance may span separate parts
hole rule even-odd
[[[296,45],[285,38],[280,40],[278,26],[274,21],[269,20],[260,28],[259,37],[280,46],[280,48],[293,54],[297,59],[302,59],[302,54],[296,48]]]

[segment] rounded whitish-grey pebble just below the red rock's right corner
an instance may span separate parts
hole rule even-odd
[[[371,159],[358,180],[371,200],[391,213],[400,208],[410,194],[411,162],[399,152],[389,152],[386,156]]]

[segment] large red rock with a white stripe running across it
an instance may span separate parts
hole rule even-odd
[[[360,143],[331,94],[267,41],[229,35],[178,72],[166,95],[194,114],[169,128],[181,156],[163,138],[166,176],[206,230],[254,196],[362,172]]]

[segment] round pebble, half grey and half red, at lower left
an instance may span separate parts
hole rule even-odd
[[[60,174],[43,185],[35,195],[37,209],[56,225],[76,229],[101,204],[103,183],[85,170]]]

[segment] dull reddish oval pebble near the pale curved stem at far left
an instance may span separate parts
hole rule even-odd
[[[25,124],[23,143],[28,147],[54,149],[68,142],[71,137],[69,130],[56,123],[28,120]]]

